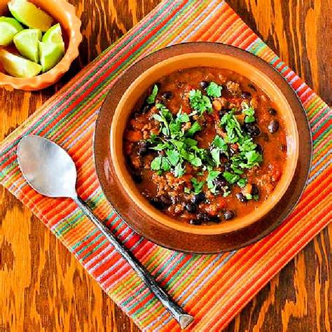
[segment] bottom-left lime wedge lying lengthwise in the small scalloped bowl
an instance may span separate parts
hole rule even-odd
[[[41,65],[30,60],[9,53],[6,50],[0,50],[0,61],[8,74],[20,78],[29,78],[38,75],[41,72]]]

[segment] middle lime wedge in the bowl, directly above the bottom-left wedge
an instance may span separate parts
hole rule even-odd
[[[36,63],[39,62],[38,42],[40,40],[40,29],[25,29],[14,36],[15,46],[21,55]]]

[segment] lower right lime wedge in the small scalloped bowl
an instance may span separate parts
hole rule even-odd
[[[44,73],[60,62],[64,56],[64,43],[43,43],[39,41],[39,55]]]

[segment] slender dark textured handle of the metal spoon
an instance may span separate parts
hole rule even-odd
[[[99,230],[105,235],[107,240],[113,244],[113,247],[127,260],[130,266],[137,272],[137,275],[141,277],[148,289],[150,289],[155,296],[160,300],[162,305],[172,314],[172,317],[178,321],[181,328],[186,328],[193,321],[193,317],[190,314],[187,314],[177,303],[172,300],[172,298],[160,288],[160,286],[155,282],[152,275],[144,268],[137,258],[121,243],[118,239],[111,233],[109,228],[107,228],[102,221],[97,219],[97,217],[92,213],[90,207],[81,200],[81,198],[73,198],[77,203],[78,207],[81,208],[83,213],[88,216],[91,221],[99,228]]]

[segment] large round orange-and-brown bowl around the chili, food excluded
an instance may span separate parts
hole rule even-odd
[[[132,109],[134,109],[135,103],[141,97],[141,93],[162,76],[179,69],[191,67],[232,69],[242,76],[246,76],[253,83],[263,88],[272,101],[279,105],[279,116],[283,118],[286,125],[288,151],[286,165],[282,178],[270,198],[261,205],[260,209],[247,214],[245,217],[209,226],[192,226],[165,216],[165,214],[152,207],[137,190],[130,173],[127,171],[123,156],[123,132],[127,119]],[[302,116],[301,121],[298,120],[297,113]],[[303,151],[303,142],[302,138],[300,141],[298,137],[298,127],[303,130],[303,125],[307,132],[305,150],[309,158],[305,160],[307,167],[303,170],[300,189],[296,192],[296,195],[293,195],[291,205],[289,205],[289,194],[293,191],[290,186],[294,174],[298,172],[299,164],[302,166],[303,163],[303,160],[299,158],[299,151]],[[225,245],[220,242],[223,237],[244,232],[249,228],[256,228],[261,221],[266,222],[275,212],[284,218],[291,211],[305,186],[307,169],[310,165],[310,140],[307,120],[298,98],[288,83],[270,65],[254,55],[223,44],[186,43],[171,46],[149,55],[126,71],[116,85],[111,88],[109,97],[106,98],[97,120],[95,159],[99,180],[106,197],[135,230],[172,249],[214,252],[225,249]],[[104,144],[104,147],[101,147],[101,144]],[[113,190],[116,190],[116,193]],[[270,219],[270,226],[272,225],[275,225],[275,221]],[[268,223],[266,226],[268,226]],[[174,234],[177,234],[178,237],[181,237],[181,240],[177,242],[173,238],[173,240],[167,242],[168,239],[160,238],[158,233],[160,230],[164,230],[168,238],[170,238],[170,234],[172,234],[172,238]],[[262,228],[261,232],[258,232],[261,233],[261,236],[263,236],[263,230]],[[158,233],[158,235],[155,235],[155,233]],[[202,240],[209,241],[212,238],[219,240],[211,247],[213,249],[208,251],[206,249],[202,250],[202,247],[197,243],[184,245],[180,243],[184,242],[184,239],[193,239],[190,242],[202,242]],[[258,234],[250,240],[252,242],[257,238]],[[246,243],[242,245],[247,244],[250,240],[245,241]],[[206,247],[207,244],[205,244]],[[226,249],[233,248],[234,246],[226,247]]]

